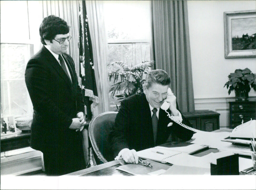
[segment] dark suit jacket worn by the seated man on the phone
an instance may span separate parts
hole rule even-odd
[[[170,122],[173,125],[167,127]],[[182,123],[189,125],[184,119]],[[173,122],[166,112],[160,108],[156,146],[164,144],[170,134],[183,140],[189,140],[193,135],[193,131]],[[121,102],[110,139],[114,156],[117,156],[124,148],[140,151],[155,146],[151,111],[144,93],[130,96]]]

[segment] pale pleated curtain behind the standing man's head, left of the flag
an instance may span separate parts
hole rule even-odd
[[[49,15],[55,15],[64,19],[69,26],[69,35],[72,36],[72,39],[69,41],[68,54],[74,60],[76,67],[76,74],[79,74],[79,49],[78,49],[78,3],[77,1],[42,1],[43,4],[43,17]],[[41,22],[42,22],[41,20]],[[81,78],[78,75],[78,81],[81,86]]]

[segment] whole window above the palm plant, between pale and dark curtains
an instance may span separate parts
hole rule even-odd
[[[152,60],[150,1],[104,1],[104,17],[108,63],[124,62],[132,67]],[[118,101],[109,100],[110,107],[116,110]]]

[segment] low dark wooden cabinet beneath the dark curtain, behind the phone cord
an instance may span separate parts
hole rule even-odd
[[[183,116],[191,123],[190,127],[201,131],[220,129],[220,114],[214,111],[184,112]]]

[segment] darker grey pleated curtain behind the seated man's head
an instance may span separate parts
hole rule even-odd
[[[181,112],[195,111],[186,1],[152,1],[156,69],[171,76]]]

